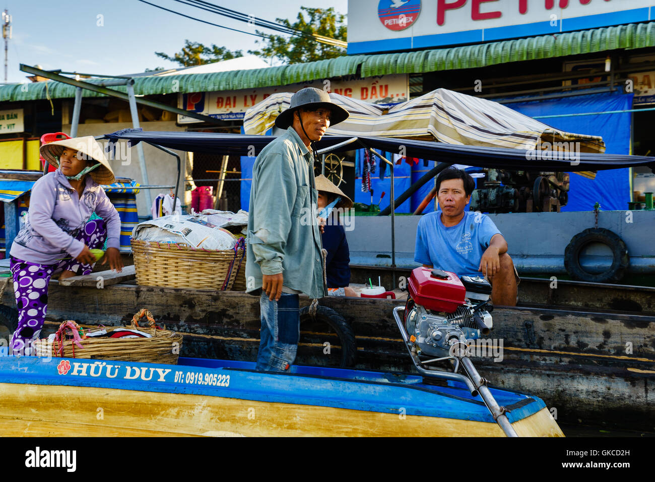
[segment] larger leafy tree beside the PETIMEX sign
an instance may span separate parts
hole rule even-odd
[[[301,30],[308,35],[323,35],[324,37],[346,41],[347,27],[344,23],[346,16],[335,12],[334,7],[329,7],[329,9],[300,7],[300,9],[297,20],[293,24],[282,18],[276,18],[275,21],[285,27]],[[309,19],[305,20],[303,11],[307,13]],[[264,43],[264,46],[259,50],[248,50],[248,53],[267,59],[277,58],[286,64],[300,64],[335,58],[346,53],[346,50],[341,47],[319,43],[307,37],[294,35],[287,38],[282,35],[269,35],[262,31],[257,31],[257,33],[267,35],[269,38],[256,41],[256,43]]]

